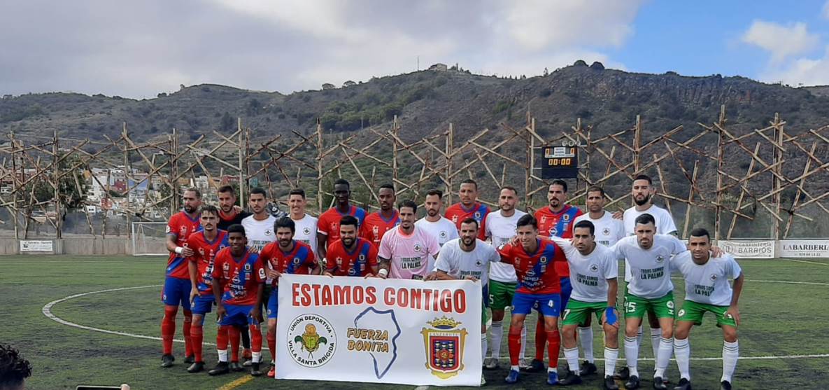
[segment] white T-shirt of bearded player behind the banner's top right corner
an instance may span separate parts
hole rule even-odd
[[[461,239],[456,238],[440,248],[434,268],[458,279],[473,275],[481,280],[482,286],[486,286],[489,282],[489,264],[500,262],[501,255],[487,242],[476,238],[475,248],[472,251],[464,251],[461,249]]]

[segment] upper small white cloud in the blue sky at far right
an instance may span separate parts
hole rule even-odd
[[[817,34],[809,33],[804,22],[783,26],[775,22],[755,20],[742,40],[768,51],[771,61],[778,64],[790,56],[811,51],[817,47],[820,38]]]

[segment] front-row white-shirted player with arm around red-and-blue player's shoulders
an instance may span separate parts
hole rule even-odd
[[[570,266],[573,292],[567,302],[561,320],[564,324],[564,351],[570,371],[560,384],[581,383],[579,373],[579,346],[576,344],[576,328],[595,314],[604,328],[604,388],[617,390],[613,382],[613,370],[618,358],[618,261],[613,251],[598,245],[593,222],[579,221],[573,228],[573,240],[550,237],[565,251]]]

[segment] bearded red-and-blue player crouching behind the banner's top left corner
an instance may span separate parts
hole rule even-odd
[[[293,219],[281,217],[274,222],[276,241],[259,252],[259,259],[272,283],[268,298],[268,349],[274,359],[268,377],[276,375],[276,314],[279,312],[279,276],[282,274],[319,275],[320,269],[311,246],[293,239],[296,224]],[[259,306],[256,306],[259,307]],[[261,336],[259,336],[261,338]],[[256,361],[256,360],[254,360]]]

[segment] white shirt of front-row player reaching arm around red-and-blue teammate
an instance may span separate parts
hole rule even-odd
[[[567,256],[570,285],[573,286],[570,298],[581,302],[607,302],[608,279],[616,279],[619,275],[619,263],[613,251],[597,244],[589,255],[584,256],[570,240],[556,236],[550,237],[550,240],[560,246]]]

